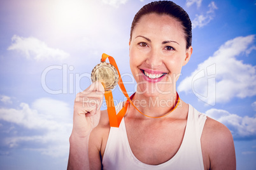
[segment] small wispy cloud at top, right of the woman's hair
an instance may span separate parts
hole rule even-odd
[[[213,20],[213,16],[215,15],[215,10],[217,10],[216,4],[212,1],[209,5],[209,10],[204,15],[196,15],[196,18],[192,20],[192,29],[195,29],[196,27],[204,27],[204,25],[207,25],[210,23],[211,20]]]

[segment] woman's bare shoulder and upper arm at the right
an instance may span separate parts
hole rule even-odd
[[[234,140],[224,124],[207,117],[201,144],[207,169],[236,169]]]

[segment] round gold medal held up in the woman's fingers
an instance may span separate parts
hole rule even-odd
[[[105,91],[110,91],[117,86],[119,76],[117,69],[113,65],[101,62],[92,69],[91,79],[92,82],[100,81]]]

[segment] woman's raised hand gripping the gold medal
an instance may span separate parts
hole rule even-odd
[[[92,83],[85,91],[78,93],[73,114],[73,135],[87,137],[99,124],[104,87],[101,82]]]

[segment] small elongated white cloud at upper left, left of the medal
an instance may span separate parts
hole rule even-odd
[[[17,50],[24,53],[26,58],[34,58],[34,60],[63,60],[69,56],[68,53],[48,47],[45,42],[39,41],[35,37],[20,37],[14,35],[11,38],[13,43],[8,50]]]

